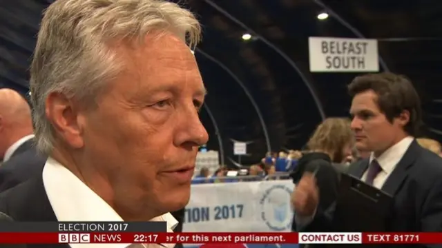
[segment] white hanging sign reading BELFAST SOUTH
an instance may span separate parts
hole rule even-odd
[[[378,72],[376,39],[309,37],[310,72]]]

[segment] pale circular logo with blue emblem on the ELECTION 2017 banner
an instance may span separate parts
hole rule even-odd
[[[271,230],[291,229],[290,195],[291,189],[285,185],[273,185],[263,194],[261,218]]]

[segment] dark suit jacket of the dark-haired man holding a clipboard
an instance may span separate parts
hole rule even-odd
[[[350,165],[348,174],[361,178],[368,163],[364,159]],[[441,178],[442,158],[413,141],[382,187],[394,196],[387,231],[442,231]],[[327,214],[318,210],[314,220],[301,231],[333,231],[333,227]]]

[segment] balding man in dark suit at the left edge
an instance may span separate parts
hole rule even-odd
[[[46,157],[34,146],[30,107],[14,90],[0,90],[0,192],[41,174]]]

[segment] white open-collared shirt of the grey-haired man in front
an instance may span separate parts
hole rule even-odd
[[[50,205],[59,221],[124,221],[108,203],[53,158],[48,158],[46,161],[43,183]],[[153,218],[151,221],[166,221],[168,232],[173,232],[178,224],[170,213]],[[129,245],[131,244],[70,244],[70,247],[126,248]],[[175,246],[175,244],[161,245],[167,248]]]

